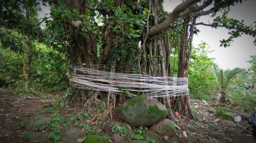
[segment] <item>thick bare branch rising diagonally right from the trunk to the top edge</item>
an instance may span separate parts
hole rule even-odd
[[[185,11],[188,7],[197,2],[200,2],[200,0],[186,0],[185,2],[178,5],[163,22],[150,28],[148,31],[148,36],[156,35],[165,30],[170,25],[170,23],[178,18],[181,12]]]

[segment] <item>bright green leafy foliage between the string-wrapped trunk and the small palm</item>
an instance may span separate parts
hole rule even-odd
[[[216,91],[215,73],[216,66],[213,58],[209,58],[209,47],[205,42],[195,46],[191,53],[188,71],[188,85],[191,97],[207,99]]]

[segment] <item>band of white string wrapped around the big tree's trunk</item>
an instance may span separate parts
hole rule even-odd
[[[151,97],[184,96],[188,94],[187,78],[149,76],[144,74],[112,73],[73,67],[71,84],[74,88],[112,92],[120,95]]]

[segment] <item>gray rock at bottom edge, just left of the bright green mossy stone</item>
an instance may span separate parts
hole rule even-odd
[[[77,143],[78,138],[83,138],[84,133],[78,128],[69,128],[62,132],[61,142]]]

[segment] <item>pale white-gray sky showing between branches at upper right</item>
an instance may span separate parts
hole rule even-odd
[[[172,10],[182,3],[181,0],[164,0],[164,9],[172,12]],[[243,1],[242,4],[230,7],[228,17],[235,18],[237,20],[245,20],[247,25],[254,25],[256,21],[256,2],[255,1]],[[209,23],[212,21],[210,16],[201,16],[197,22]],[[226,28],[211,28],[208,26],[198,25],[197,28],[201,31],[198,35],[194,35],[193,44],[198,45],[202,41],[206,42],[208,46],[214,50],[209,56],[215,58],[215,62],[223,69],[249,68],[250,63],[246,62],[250,60],[250,55],[256,54],[256,47],[253,44],[254,38],[243,35],[242,37],[234,39],[232,46],[224,48],[220,47],[220,40],[227,39],[228,30]]]

